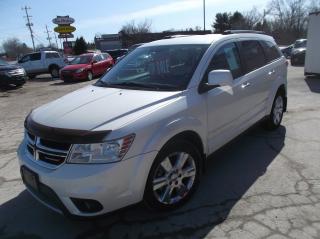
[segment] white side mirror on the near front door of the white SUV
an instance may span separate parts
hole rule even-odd
[[[232,86],[233,76],[229,70],[213,70],[208,74],[208,83],[199,87],[199,93],[208,92],[221,86]]]

